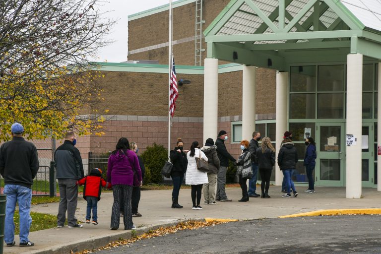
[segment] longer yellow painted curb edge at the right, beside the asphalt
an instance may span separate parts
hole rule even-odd
[[[278,218],[295,218],[295,217],[305,217],[305,216],[332,216],[332,215],[344,215],[344,214],[381,214],[381,208],[318,210],[318,211],[312,211],[312,212],[284,215],[284,216],[279,216]]]

